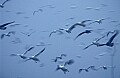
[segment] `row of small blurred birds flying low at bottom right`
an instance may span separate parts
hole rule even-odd
[[[89,72],[89,70],[94,70],[94,71],[98,71],[99,69],[104,69],[104,70],[107,70],[108,67],[107,66],[99,66],[99,67],[95,67],[95,66],[89,66],[88,68],[82,68],[82,69],[79,69],[79,73],[81,73],[83,70],[86,71],[86,72]]]

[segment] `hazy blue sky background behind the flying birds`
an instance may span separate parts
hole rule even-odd
[[[4,1],[0,0],[0,3]],[[88,7],[92,9],[87,10]],[[120,78],[120,35],[114,40],[118,43],[115,47],[91,46],[82,50],[95,38],[100,38],[101,34],[109,30],[120,29],[119,7],[120,0],[11,0],[7,2],[4,8],[0,8],[0,24],[15,21],[15,24],[20,25],[9,25],[6,30],[0,30],[0,35],[9,31],[16,32],[15,35],[0,40],[0,78],[113,78],[111,68],[99,71],[91,70],[88,73],[83,71],[80,74],[78,70],[90,65],[96,67],[111,66],[111,54],[114,51],[114,78]],[[33,12],[39,8],[42,11],[33,15]],[[98,20],[108,17],[110,19],[103,20],[102,24],[94,23],[89,27],[95,30],[103,30],[84,34],[77,40],[74,40],[74,38],[86,28],[77,27],[71,34],[52,34],[49,38],[50,32],[55,29],[69,28],[74,23],[86,19]],[[21,32],[34,33],[28,37]],[[105,38],[101,42],[104,43],[109,38]],[[13,43],[12,41],[15,41],[15,39],[20,39],[20,42]],[[46,47],[44,53],[38,56],[40,63],[44,64],[43,67],[40,67],[40,63],[35,63],[32,60],[21,63],[19,57],[10,56],[12,53],[23,53],[26,51],[26,47],[34,46],[39,42],[51,45],[35,47],[27,53],[27,56],[34,55]],[[73,65],[67,66],[70,71],[67,74],[64,74],[61,70],[55,71],[58,64],[51,61],[62,53],[67,54],[64,61],[75,60]],[[104,55],[100,56],[101,53]],[[78,55],[81,58],[76,57]]]

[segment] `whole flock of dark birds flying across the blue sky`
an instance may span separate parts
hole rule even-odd
[[[4,5],[10,0],[5,0],[1,5],[0,7],[1,8],[4,8]],[[47,5],[49,6],[49,5]],[[43,6],[44,7],[44,6]],[[90,8],[87,8],[87,9],[90,9]],[[33,12],[33,15],[35,15],[36,12],[39,12],[39,11],[43,11],[42,9],[39,9],[37,11],[34,11]],[[98,23],[98,24],[102,24],[102,22],[104,20],[107,20],[109,18],[101,18],[99,20],[84,20],[84,21],[81,21],[81,22],[76,22],[74,23],[73,25],[71,25],[69,28],[58,28],[56,30],[53,30],[52,32],[50,32],[49,34],[49,38],[53,35],[53,34],[56,34],[56,33],[59,33],[59,34],[63,34],[63,33],[67,33],[67,34],[71,34],[72,31],[77,27],[88,27],[94,23]],[[8,22],[8,23],[4,23],[2,25],[0,25],[0,30],[6,30],[11,24],[14,24],[15,21],[11,21],[11,22]],[[84,34],[90,34],[92,32],[94,32],[96,30],[93,30],[93,29],[86,29],[85,31],[83,32],[80,32],[75,38],[74,40],[78,39],[80,36],[84,35]],[[35,31],[31,32],[31,33],[24,33],[24,32],[21,32],[22,34],[25,34],[27,35],[28,37],[31,36],[31,34],[33,34]],[[108,37],[109,34],[112,34],[112,36],[109,38],[109,40],[105,43],[100,43],[99,41],[104,39],[105,37]],[[85,49],[88,49],[90,46],[92,45],[95,45],[97,47],[101,47],[101,46],[108,46],[108,47],[113,47],[114,46],[114,42],[113,40],[115,39],[115,37],[119,34],[119,30],[114,30],[114,31],[108,31],[106,34],[104,34],[103,36],[101,36],[100,38],[97,38],[95,41],[92,41],[88,46],[86,46],[85,48],[83,48],[83,50]],[[15,35],[15,31],[10,31],[8,33],[3,33],[1,34],[1,39],[3,39],[5,36],[6,37],[10,37],[11,35]],[[49,45],[49,44],[48,44]],[[36,45],[36,46],[39,46],[39,45]],[[11,54],[10,56],[18,56],[20,57],[21,59],[24,60],[24,62],[26,61],[29,61],[29,60],[33,60],[35,63],[38,63],[40,62],[38,56],[41,55],[45,50],[46,50],[46,47],[43,48],[42,50],[40,50],[38,53],[36,53],[35,55],[33,56],[26,56],[26,54],[28,52],[30,52],[31,50],[33,50],[35,48],[35,46],[32,46],[30,48],[28,48],[24,53],[22,54]],[[55,63],[58,63],[59,60],[62,60],[63,58],[67,57],[67,54],[61,54],[60,56],[57,56],[55,57],[54,59],[52,59],[53,62]],[[64,63],[60,63],[57,65],[56,67],[56,71],[58,70],[62,70],[64,72],[64,74],[66,74],[66,72],[69,72],[67,66],[68,65],[72,65],[74,64],[74,59],[69,59],[68,61],[65,61]],[[85,72],[89,72],[89,70],[94,70],[94,71],[98,71],[99,69],[104,69],[104,70],[107,70],[108,68],[112,68],[111,66],[99,66],[99,67],[96,67],[94,65],[91,65],[87,68],[80,68],[79,69],[79,73],[82,72],[82,71],[85,71]]]

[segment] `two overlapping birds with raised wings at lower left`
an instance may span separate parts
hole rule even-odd
[[[34,49],[35,47],[30,47],[28,50],[26,50],[23,54],[11,54],[10,56],[19,56],[20,58],[24,59],[25,62],[28,60],[33,60],[35,63],[40,62],[40,60],[37,58],[41,53],[43,53],[45,51],[46,48],[43,48],[40,52],[38,52],[37,54],[27,57],[25,56],[25,54],[27,54],[27,52],[31,51],[32,49]]]

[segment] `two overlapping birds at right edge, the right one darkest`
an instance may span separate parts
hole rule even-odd
[[[106,42],[106,43],[99,43],[98,41],[100,41],[102,38],[108,36],[110,33],[114,33],[110,39]],[[86,46],[83,50],[89,48],[92,45],[96,45],[97,47],[100,46],[109,46],[109,47],[113,47],[114,43],[113,40],[114,38],[119,34],[119,30],[114,30],[114,32],[108,32],[107,35],[102,36],[101,38],[97,39],[96,41],[93,41],[90,45]]]

